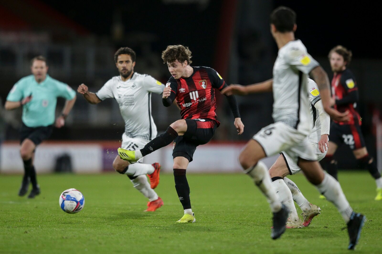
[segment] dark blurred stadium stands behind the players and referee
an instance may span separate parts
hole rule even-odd
[[[2,104],[17,80],[30,73],[29,60],[47,56],[49,74],[76,90],[85,83],[96,92],[118,75],[113,53],[131,47],[137,53],[134,70],[163,83],[167,67],[160,53],[167,45],[183,44],[193,52],[194,66],[216,69],[227,83],[243,85],[272,77],[277,47],[269,32],[269,14],[285,5],[297,13],[296,37],[332,77],[327,54],[341,44],[353,51],[350,69],[359,85],[362,129],[371,154],[376,153],[372,117],[380,115],[379,10],[369,2],[157,0],[157,1],[36,1],[0,0],[0,98]],[[179,118],[153,95],[153,117],[159,133]],[[222,122],[215,140],[248,140],[272,122],[272,95],[238,98],[244,135],[235,135],[233,116],[218,98]],[[62,107],[60,101],[57,111]],[[3,117],[2,138],[17,140],[21,111]],[[102,134],[100,134],[102,133]],[[78,96],[66,127],[52,139],[120,139],[123,121],[113,100],[89,105]],[[348,152],[342,148],[340,153]],[[344,160],[346,167],[354,161]],[[354,165],[353,165],[354,166]]]

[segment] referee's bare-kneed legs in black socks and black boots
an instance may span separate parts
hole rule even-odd
[[[40,194],[40,188],[37,184],[36,170],[33,166],[33,154],[35,149],[36,145],[29,138],[26,138],[23,143],[21,143],[20,155],[24,163],[24,177],[19,190],[19,196],[24,196],[26,194],[29,187],[29,181],[32,183],[32,190],[28,198],[34,198],[36,195]]]

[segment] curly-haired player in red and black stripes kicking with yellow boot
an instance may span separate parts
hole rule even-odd
[[[163,62],[167,64],[172,75],[163,90],[163,105],[168,107],[176,99],[181,111],[181,120],[173,122],[166,132],[151,140],[139,151],[118,149],[121,159],[135,162],[174,141],[175,188],[184,209],[183,217],[177,221],[180,223],[195,222],[186,169],[193,160],[196,147],[208,143],[220,125],[215,113],[215,88],[221,91],[227,87],[223,78],[214,69],[190,66],[192,63],[190,58],[191,51],[183,45],[168,46],[162,52]],[[240,119],[236,99],[233,95],[226,98],[235,117],[234,125],[240,135],[243,133],[244,125]]]

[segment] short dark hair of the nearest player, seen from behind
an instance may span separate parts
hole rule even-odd
[[[296,13],[285,6],[277,7],[270,14],[270,23],[274,24],[279,32],[292,32],[296,24]]]

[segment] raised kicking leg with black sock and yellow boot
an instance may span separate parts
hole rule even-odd
[[[121,159],[134,163],[147,154],[169,145],[176,137],[184,135],[186,131],[187,123],[184,119],[175,121],[168,126],[165,132],[151,140],[141,150],[129,151],[123,148],[118,148],[118,154]]]

